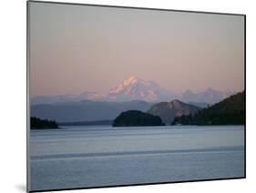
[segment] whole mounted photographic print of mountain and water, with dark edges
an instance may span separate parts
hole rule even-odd
[[[27,191],[245,178],[245,15],[27,2]]]

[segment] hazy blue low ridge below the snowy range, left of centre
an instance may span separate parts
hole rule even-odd
[[[30,107],[32,117],[54,119],[56,122],[88,122],[114,120],[121,112],[127,110],[148,111],[153,103],[145,101],[106,102],[83,100],[79,102],[62,102],[39,104]]]

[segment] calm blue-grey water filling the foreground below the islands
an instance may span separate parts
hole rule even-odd
[[[244,127],[67,127],[30,133],[30,188],[244,176]]]

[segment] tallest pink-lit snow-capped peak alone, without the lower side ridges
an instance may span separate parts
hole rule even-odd
[[[144,100],[159,102],[175,97],[175,94],[162,88],[153,81],[145,81],[136,76],[130,76],[117,87],[109,90],[106,97],[110,101]]]

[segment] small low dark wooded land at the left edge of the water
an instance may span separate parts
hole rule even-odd
[[[37,117],[30,117],[31,129],[52,129],[59,128],[56,121],[48,119],[40,119]]]

